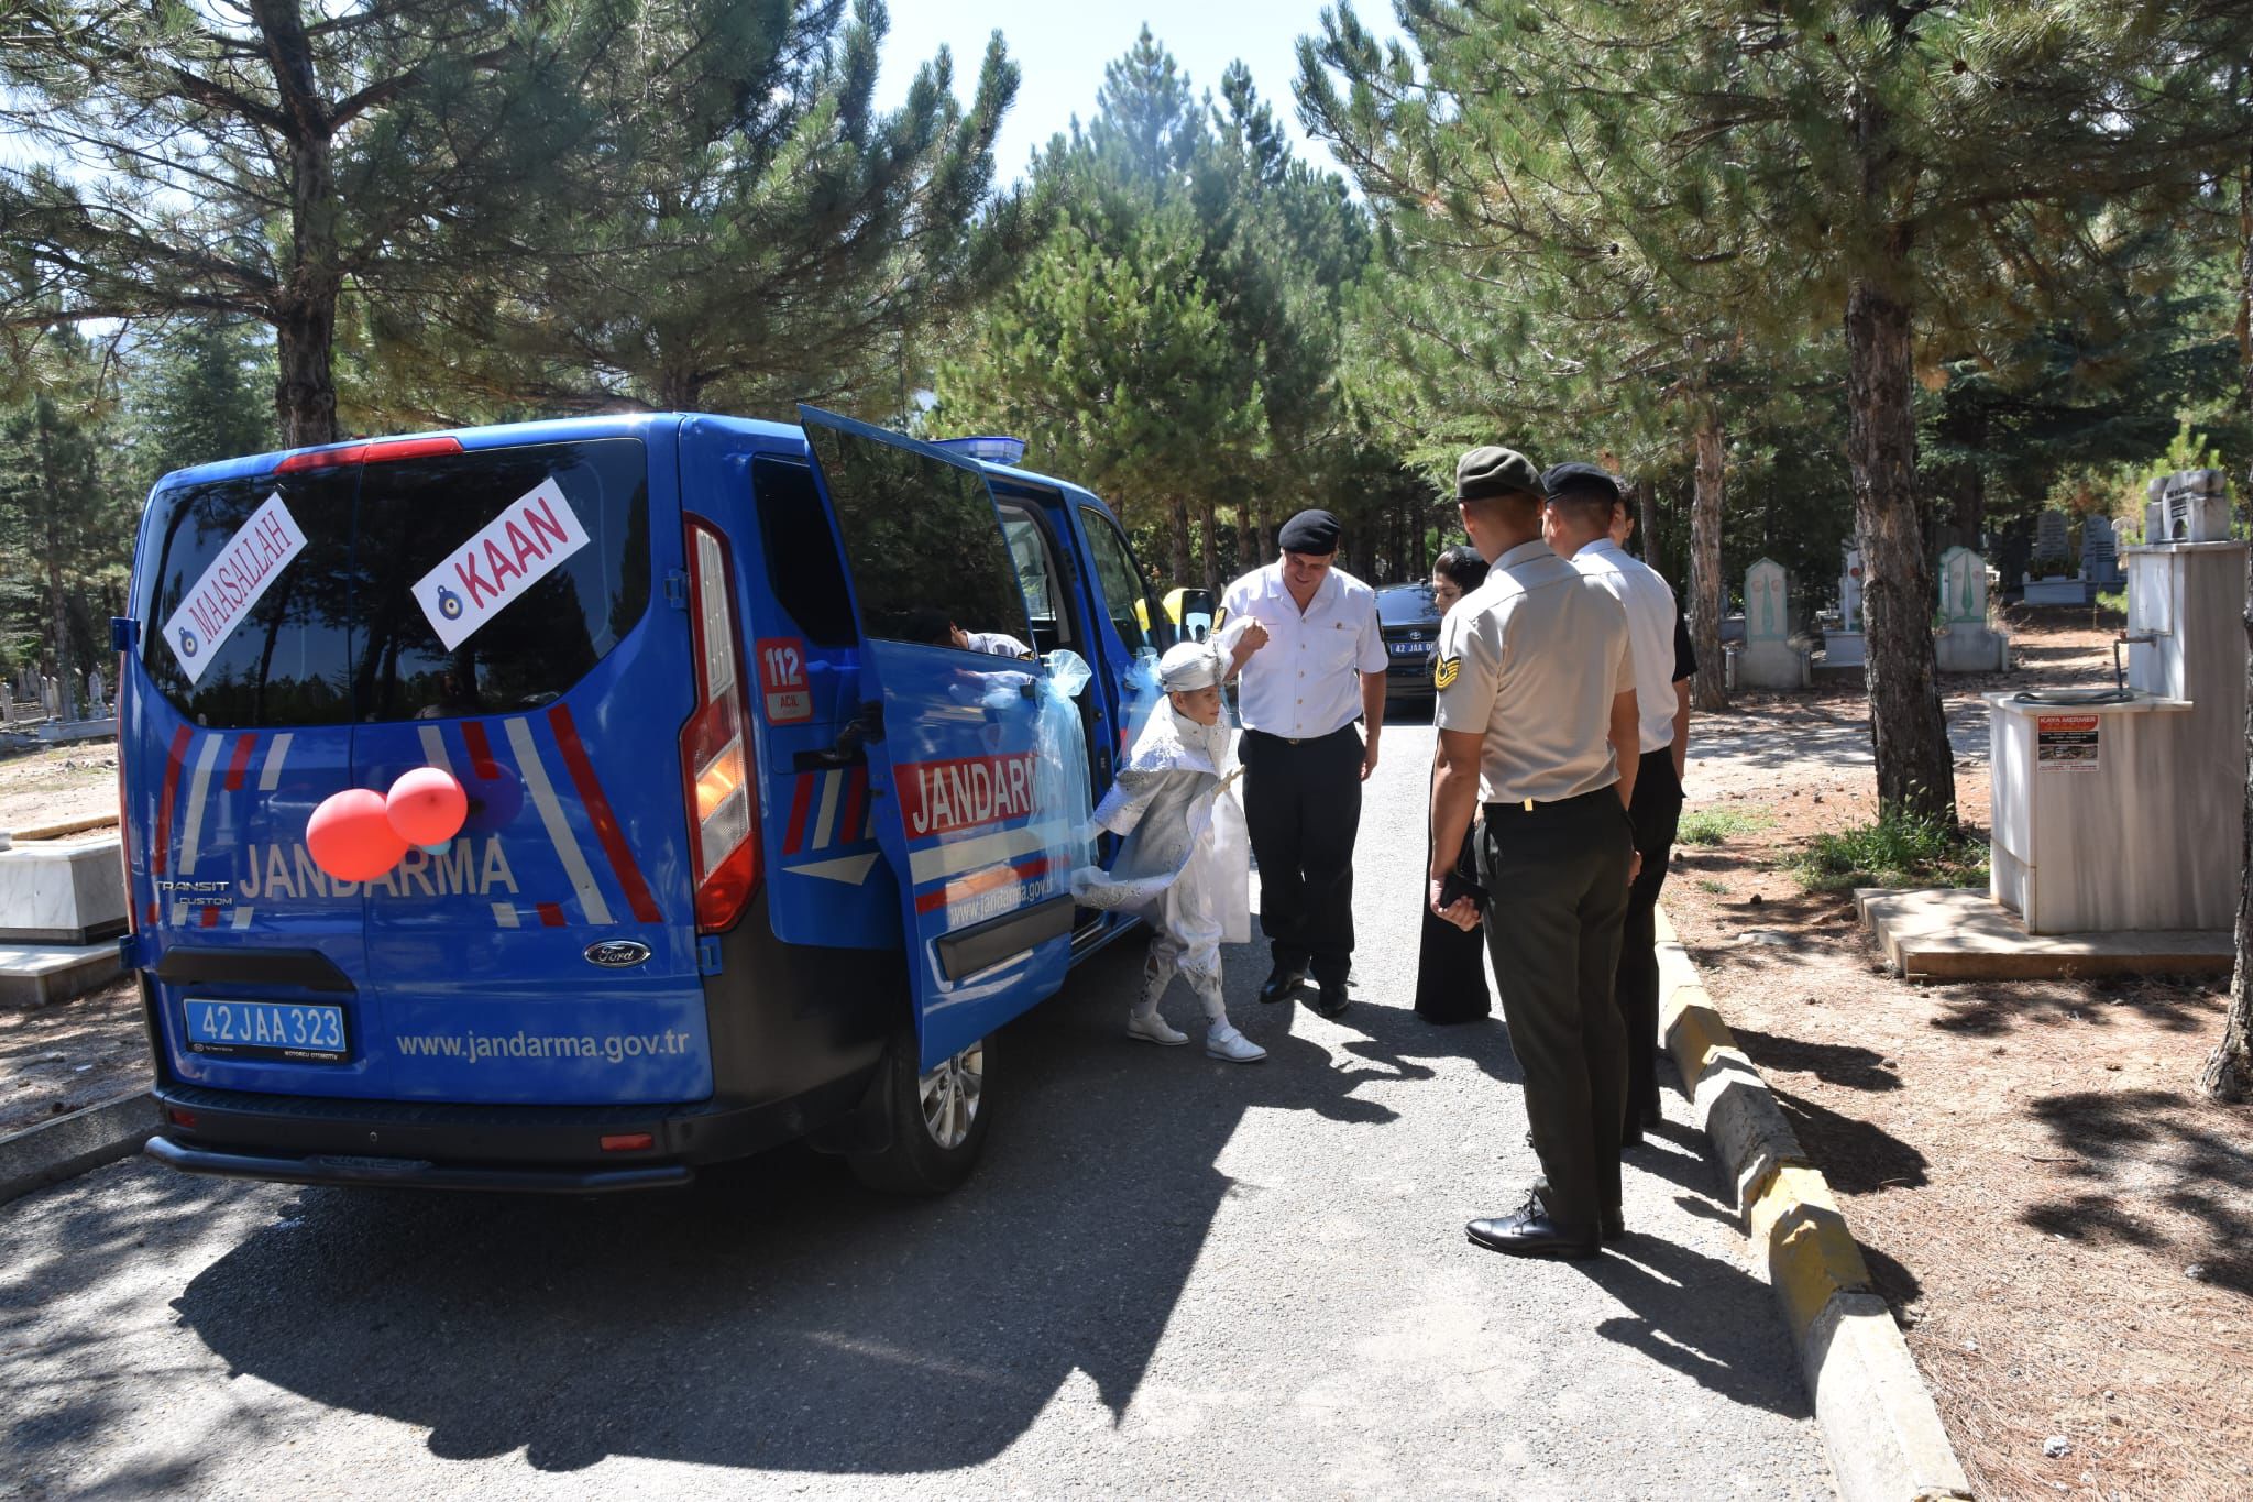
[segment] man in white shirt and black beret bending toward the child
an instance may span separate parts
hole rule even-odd
[[[1298,995],[1311,973],[1316,1011],[1334,1018],[1354,957],[1354,833],[1386,723],[1386,642],[1377,592],[1334,567],[1336,516],[1300,511],[1275,540],[1282,558],[1228,585],[1217,631],[1241,662],[1244,817],[1275,957],[1259,1000]],[[1237,644],[1248,622],[1266,642],[1246,655]]]

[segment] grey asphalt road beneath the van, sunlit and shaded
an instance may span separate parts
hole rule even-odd
[[[1408,1011],[1428,757],[1392,725],[1368,790],[1352,1011],[1259,1007],[1248,948],[1264,1065],[1126,1043],[1115,948],[1003,1036],[940,1203],[135,1160],[0,1209],[0,1495],[1832,1495],[1678,1097],[1615,1250],[1464,1243],[1534,1164],[1500,1022]]]

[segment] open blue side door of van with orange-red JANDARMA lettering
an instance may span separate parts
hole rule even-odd
[[[818,408],[798,414],[845,547],[861,691],[881,707],[876,840],[899,874],[930,1070],[1063,984],[1066,849],[1086,811],[1043,806],[1045,671],[985,471]]]

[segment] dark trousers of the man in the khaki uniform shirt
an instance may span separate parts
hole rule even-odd
[[[1627,1029],[1613,1000],[1633,835],[1620,795],[1487,804],[1478,869],[1494,901],[1487,946],[1510,1047],[1525,1072],[1525,1119],[1568,1230],[1595,1232],[1620,1205]]]

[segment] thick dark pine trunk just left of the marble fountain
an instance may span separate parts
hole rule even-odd
[[[1902,248],[1906,254],[1906,245]],[[1956,824],[1956,754],[1933,660],[1933,581],[1917,518],[1908,306],[1868,277],[1845,304],[1847,464],[1879,808]]]

